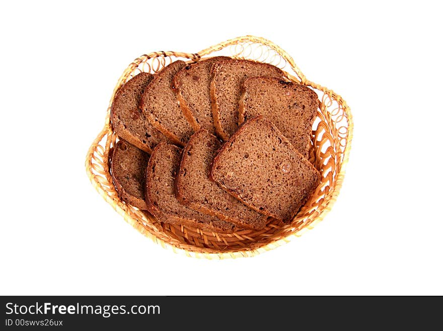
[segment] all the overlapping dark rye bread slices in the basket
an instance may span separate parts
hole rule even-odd
[[[307,159],[317,94],[271,64],[177,60],[118,91],[111,174],[124,202],[206,231],[290,222],[320,183]]]

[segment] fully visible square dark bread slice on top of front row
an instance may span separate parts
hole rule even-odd
[[[247,120],[215,156],[211,178],[256,211],[293,219],[320,183],[320,173],[270,121]]]

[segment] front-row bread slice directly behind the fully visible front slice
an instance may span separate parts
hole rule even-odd
[[[208,178],[210,163],[220,147],[205,129],[192,135],[180,161],[175,195],[180,203],[240,227],[263,229],[267,217],[250,209]]]

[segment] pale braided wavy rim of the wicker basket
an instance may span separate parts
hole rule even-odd
[[[343,112],[346,114],[346,118],[347,118],[347,136],[346,136],[346,140],[345,140],[346,145],[344,147],[343,158],[342,158],[342,162],[340,164],[341,167],[340,167],[339,172],[336,173],[337,179],[335,180],[335,185],[333,185],[332,191],[329,194],[330,198],[327,201],[327,206],[325,208],[323,208],[323,210],[321,210],[318,213],[318,215],[316,215],[315,219],[313,219],[313,221],[308,226],[303,227],[302,229],[297,230],[296,232],[291,232],[291,233],[281,237],[280,239],[268,242],[268,243],[263,244],[257,248],[250,248],[250,247],[246,246],[244,248],[235,249],[232,251],[230,251],[230,250],[220,251],[220,250],[213,249],[213,248],[206,248],[206,247],[201,248],[201,247],[197,247],[197,246],[195,246],[195,249],[194,249],[194,246],[192,246],[192,248],[193,248],[192,250],[185,249],[182,247],[177,247],[174,244],[177,241],[176,239],[170,238],[170,241],[167,242],[164,239],[159,238],[159,236],[157,236],[157,235],[151,233],[149,230],[147,230],[145,227],[147,225],[141,224],[140,221],[134,217],[134,215],[137,216],[138,218],[142,217],[141,212],[139,212],[136,208],[134,208],[130,205],[126,205],[126,204],[122,203],[119,200],[118,195],[115,196],[116,191],[115,191],[115,187],[113,186],[112,180],[111,180],[112,187],[110,187],[109,183],[105,183],[105,180],[103,180],[103,177],[100,176],[100,175],[102,175],[102,176],[107,175],[105,169],[103,167],[100,167],[97,164],[93,163],[93,160],[95,160],[97,162],[97,157],[95,156],[94,153],[96,153],[96,155],[98,154],[103,159],[106,159],[106,157],[109,156],[109,150],[105,150],[105,148],[103,148],[103,146],[100,145],[100,142],[104,139],[105,136],[107,136],[106,137],[107,146],[109,146],[110,142],[111,142],[112,135],[110,135],[110,133],[112,133],[112,127],[111,127],[111,121],[110,121],[110,106],[113,102],[114,96],[115,96],[118,88],[125,82],[129,73],[133,72],[135,70],[135,68],[137,68],[137,66],[142,61],[144,61],[146,59],[153,58],[153,57],[157,58],[159,56],[163,56],[163,58],[165,58],[167,56],[168,57],[169,56],[184,57],[184,58],[188,58],[190,61],[195,61],[205,55],[211,54],[214,51],[221,50],[227,46],[236,45],[236,44],[244,43],[244,42],[260,43],[260,44],[266,45],[266,46],[270,47],[271,49],[275,50],[279,55],[281,55],[281,57],[286,61],[286,63],[288,63],[290,65],[291,69],[296,74],[296,76],[292,76],[288,73],[288,77],[291,80],[299,81],[303,85],[310,86],[310,87],[315,88],[317,90],[323,91],[325,94],[328,94],[328,96],[330,96],[334,100],[340,101],[340,103],[343,107]],[[159,64],[160,64],[160,61],[159,61]],[[224,42],[220,42],[216,45],[205,48],[197,53],[160,51],[160,52],[151,52],[148,54],[143,54],[140,57],[137,57],[133,62],[131,62],[129,64],[128,68],[123,72],[123,74],[119,78],[119,80],[114,88],[114,91],[112,93],[112,97],[109,102],[108,111],[107,111],[107,114],[105,117],[104,127],[100,131],[100,133],[97,135],[94,142],[91,144],[91,146],[88,150],[88,153],[87,153],[85,165],[86,165],[86,171],[87,171],[87,174],[88,174],[88,177],[89,177],[91,183],[97,189],[99,194],[105,199],[105,201],[108,202],[114,208],[114,210],[117,211],[117,213],[119,213],[121,216],[123,216],[124,220],[127,223],[131,224],[135,229],[137,229],[137,231],[144,234],[146,237],[149,237],[154,242],[162,245],[162,247],[170,248],[175,253],[179,253],[179,254],[183,254],[183,255],[191,256],[191,257],[197,257],[197,258],[204,257],[204,258],[208,258],[208,259],[223,259],[223,258],[249,257],[249,256],[255,256],[259,253],[262,253],[262,252],[270,250],[270,249],[274,249],[283,243],[289,242],[290,240],[292,240],[295,237],[301,236],[307,230],[312,229],[316,224],[318,224],[319,222],[321,222],[324,219],[326,214],[331,210],[333,204],[335,203],[338,193],[340,191],[340,188],[342,186],[342,182],[343,182],[343,178],[344,178],[344,174],[345,174],[345,170],[346,170],[346,164],[347,164],[348,158],[349,158],[349,151],[351,148],[352,134],[353,134],[352,114],[350,112],[349,106],[346,104],[346,102],[343,100],[343,98],[340,95],[336,94],[334,91],[332,91],[330,89],[327,89],[321,85],[318,85],[314,82],[309,81],[306,78],[306,76],[302,73],[302,71],[299,69],[299,67],[296,65],[296,63],[294,62],[292,57],[289,54],[287,54],[283,49],[281,49],[279,46],[277,46],[273,42],[271,42],[270,40],[267,40],[267,39],[261,38],[261,37],[247,35],[247,36],[243,36],[243,37],[229,39]],[[96,175],[93,171],[95,171],[98,175]],[[109,169],[108,169],[108,171],[109,171]],[[112,190],[114,192],[112,192]],[[111,196],[110,192],[112,192],[114,194]],[[287,227],[287,225],[285,227]],[[155,230],[153,230],[153,231],[155,231]]]

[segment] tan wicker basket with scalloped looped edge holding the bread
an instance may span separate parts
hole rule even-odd
[[[110,174],[109,154],[117,136],[112,130],[110,109],[117,90],[140,72],[157,73],[176,59],[198,61],[203,56],[228,55],[276,65],[293,82],[310,86],[321,105],[312,131],[311,162],[322,174],[321,184],[290,224],[271,223],[262,230],[233,234],[206,232],[187,226],[158,222],[152,215],[122,202]],[[135,229],[174,252],[193,257],[234,258],[254,256],[300,236],[320,222],[334,204],[340,190],[352,138],[352,116],[346,102],[336,93],[310,82],[284,50],[269,40],[245,36],[221,42],[198,53],[153,52],[136,58],[123,72],[112,93],[105,126],[86,157],[88,176],[103,198]]]

